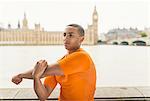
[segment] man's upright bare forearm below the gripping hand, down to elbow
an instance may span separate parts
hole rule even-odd
[[[45,101],[49,96],[48,91],[42,84],[40,78],[34,77],[34,91],[36,92],[36,95],[40,101]]]

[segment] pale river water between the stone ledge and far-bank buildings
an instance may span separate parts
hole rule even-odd
[[[97,87],[150,86],[150,47],[95,45],[82,46],[92,57],[97,70]],[[32,80],[20,85],[11,77],[45,59],[54,63],[66,50],[62,45],[0,46],[0,88],[31,88]]]

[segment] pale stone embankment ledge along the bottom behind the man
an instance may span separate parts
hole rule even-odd
[[[56,88],[48,101],[57,101],[59,89]],[[146,87],[97,87],[95,101],[149,101],[150,86]],[[0,88],[0,101],[38,100],[32,88]]]

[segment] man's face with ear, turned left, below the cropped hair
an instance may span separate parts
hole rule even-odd
[[[67,26],[64,32],[64,46],[68,51],[79,48],[83,39],[84,37],[80,36],[76,27]]]

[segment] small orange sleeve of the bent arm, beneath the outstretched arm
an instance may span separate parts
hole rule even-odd
[[[55,76],[47,76],[47,77],[45,77],[44,85],[48,86],[51,89],[54,89],[55,86],[57,85],[57,81],[56,81]]]

